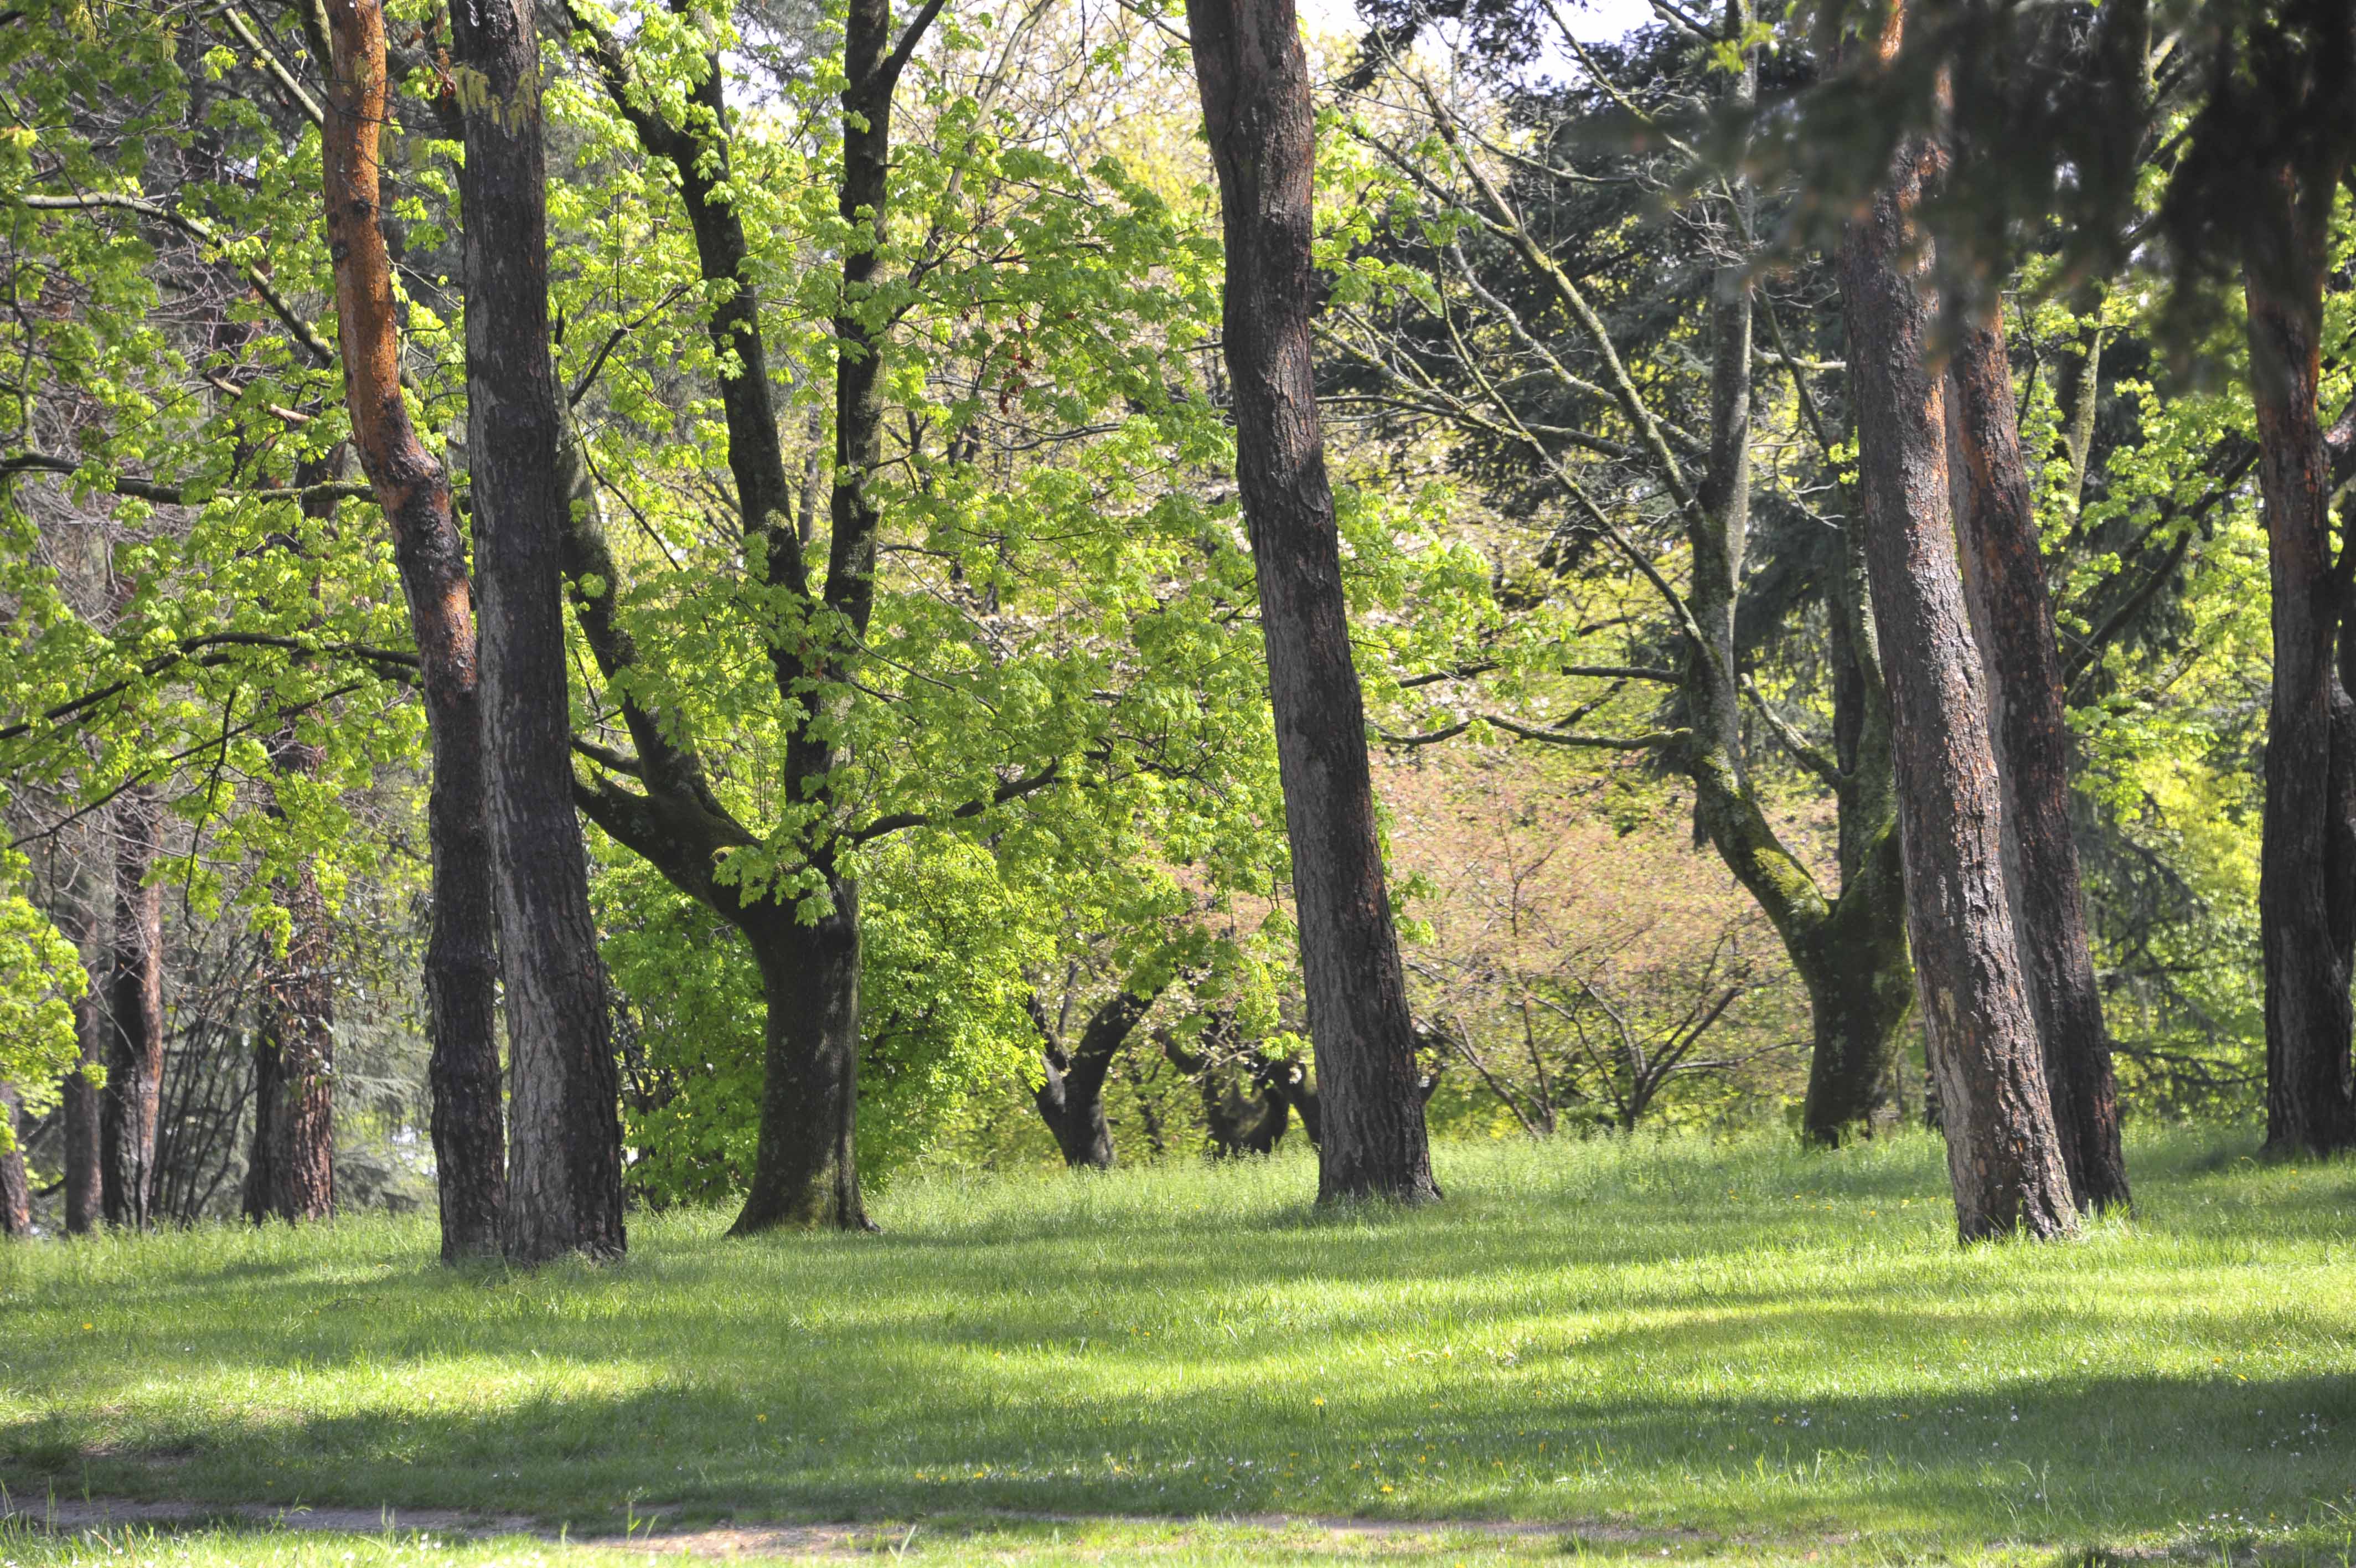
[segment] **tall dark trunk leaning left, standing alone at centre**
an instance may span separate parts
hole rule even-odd
[[[1291,0],[1187,0],[1227,241],[1237,483],[1268,637],[1301,971],[1324,1099],[1317,1198],[1425,1203],[1416,1033],[1383,884],[1366,710],[1310,375],[1315,120]]]

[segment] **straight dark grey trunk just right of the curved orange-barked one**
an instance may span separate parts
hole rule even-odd
[[[617,1257],[622,1115],[573,811],[565,486],[549,363],[540,42],[530,9],[450,9],[466,163],[466,457],[474,495],[490,846],[507,979],[509,1165],[502,1240],[521,1264]]]

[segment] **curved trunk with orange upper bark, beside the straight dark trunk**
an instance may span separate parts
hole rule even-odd
[[[434,1165],[443,1261],[499,1250],[507,1191],[495,1035],[490,825],[466,542],[450,483],[401,401],[391,259],[377,229],[377,141],[386,120],[379,0],[325,0],[335,45],[323,134],[327,238],[353,446],[393,531],[434,738],[434,931],[426,1009],[434,1033]]]

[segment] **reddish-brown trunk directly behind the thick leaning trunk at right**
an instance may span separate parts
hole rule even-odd
[[[2127,1203],[2118,1080],[2085,936],[2069,828],[2069,719],[2045,556],[2021,462],[2005,328],[1988,321],[1948,363],[1948,474],[1972,630],[1988,677],[2005,804],[2012,931],[2045,1049],[2062,1165],[2078,1207]]]

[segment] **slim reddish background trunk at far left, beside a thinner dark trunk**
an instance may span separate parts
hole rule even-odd
[[[113,809],[115,922],[108,936],[106,1092],[99,1106],[99,1188],[106,1224],[146,1228],[155,1200],[155,1108],[163,1087],[163,799],[146,785]]]

